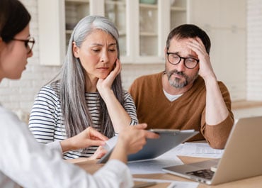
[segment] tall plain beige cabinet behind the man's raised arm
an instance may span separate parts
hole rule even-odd
[[[246,0],[190,0],[188,12],[189,22],[210,36],[217,79],[233,101],[246,99]]]

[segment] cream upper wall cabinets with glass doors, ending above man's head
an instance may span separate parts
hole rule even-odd
[[[164,62],[166,37],[171,28],[188,22],[189,0],[150,1],[38,0],[40,64],[62,65],[72,29],[87,15],[115,23],[123,63]]]

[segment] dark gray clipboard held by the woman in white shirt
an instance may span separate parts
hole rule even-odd
[[[158,133],[159,138],[147,139],[147,143],[144,145],[142,150],[127,156],[128,162],[137,160],[150,160],[159,157],[160,155],[166,153],[180,143],[185,142],[189,138],[192,138],[199,133],[193,129],[183,131],[179,131],[177,129],[150,129],[149,131]],[[108,143],[110,143],[106,144],[106,150],[108,150],[108,153],[98,160],[97,163],[106,163],[108,161],[116,141],[117,138],[115,137],[108,140]]]

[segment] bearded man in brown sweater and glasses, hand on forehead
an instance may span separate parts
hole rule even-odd
[[[174,28],[166,40],[165,70],[135,79],[129,92],[139,123],[147,128],[195,129],[191,140],[224,148],[234,124],[227,87],[210,62],[210,38],[193,24]]]

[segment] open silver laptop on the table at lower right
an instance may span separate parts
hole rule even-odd
[[[221,159],[162,170],[205,184],[222,184],[262,175],[262,116],[240,118],[234,124]]]

